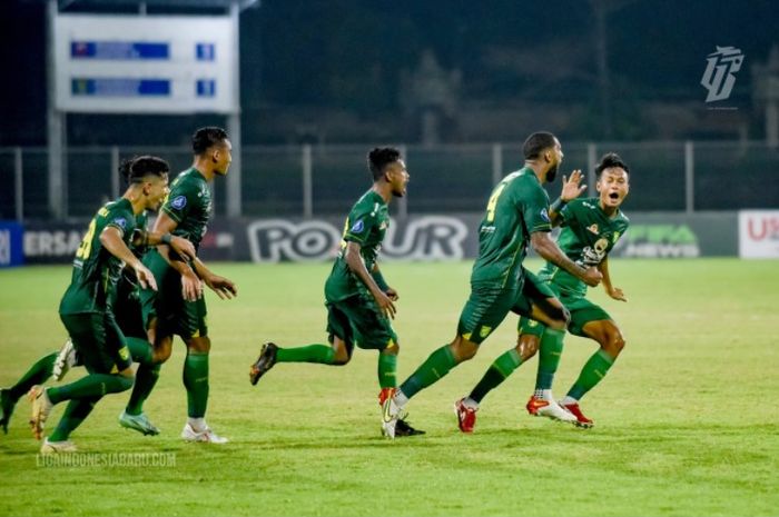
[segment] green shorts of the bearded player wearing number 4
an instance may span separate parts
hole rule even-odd
[[[516,289],[472,284],[471,296],[463,307],[457,334],[476,345],[497,328],[509,312],[530,316],[533,305],[554,298],[554,292],[532,272],[523,268],[524,280]]]

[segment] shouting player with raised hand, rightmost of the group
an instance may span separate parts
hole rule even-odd
[[[629,191],[630,169],[615,153],[603,156],[595,169],[596,198],[573,199],[574,188],[563,191],[553,203],[552,217],[562,230],[558,243],[563,252],[576,264],[595,266],[603,275],[603,288],[615,300],[627,301],[621,289],[611,284],[609,252],[628,229],[628,218],[620,210]],[[571,178],[579,182],[580,178]],[[556,226],[556,225],[555,225]],[[571,421],[580,427],[592,427],[593,421],[579,408],[579,400],[609,371],[624,347],[624,338],[609,314],[585,298],[586,286],[568,271],[546,262],[539,277],[560,297],[571,312],[569,331],[594,339],[600,349],[586,361],[579,378],[565,398],[558,404],[552,396],[552,381],[563,349],[563,330],[545,328],[527,318],[522,318],[517,329],[516,347],[506,351],[490,366],[482,380],[464,399],[455,404],[460,429],[472,433],[476,410],[484,396],[497,387],[521,364],[535,355],[541,341],[535,392],[527,401],[531,415]]]

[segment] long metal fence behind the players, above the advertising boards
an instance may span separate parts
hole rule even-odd
[[[411,173],[408,196],[394,215],[481,211],[494,183],[522,163],[521,145],[401,147]],[[371,146],[244,146],[238,206],[245,217],[341,215],[371,185]],[[631,167],[625,210],[700,211],[779,207],[779,150],[763,142],[563,143],[561,175],[581,168],[594,195],[594,167],[607,151]],[[90,147],[63,151],[61,206],[66,218],[88,218],[124,188],[120,158],[158,155],[172,170],[189,167],[184,147]],[[0,219],[46,219],[52,213],[46,148],[0,148]],[[549,186],[556,197],[560,180]],[[214,183],[217,216],[229,212],[227,186]],[[235,211],[235,210],[233,210]]]

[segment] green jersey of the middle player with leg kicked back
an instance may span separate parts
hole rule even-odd
[[[359,292],[366,292],[363,281],[352,272],[346,264],[346,243],[357,242],[365,268],[371,272],[376,265],[378,250],[389,226],[389,212],[384,198],[368,190],[354,203],[344,225],[341,250],[335,259],[331,276],[325,282],[325,297],[328,301],[339,301]]]

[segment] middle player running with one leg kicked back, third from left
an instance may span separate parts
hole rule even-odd
[[[253,385],[277,362],[345,365],[357,345],[379,351],[379,404],[394,391],[400,344],[389,319],[395,317],[397,291],[387,286],[376,258],[389,225],[389,201],[406,193],[410,176],[400,151],[391,147],[373,149],[368,169],[373,187],[352,207],[341,251],[325,282],[329,345],[279,348],[265,344],[249,371]],[[398,436],[421,433],[398,421]]]

